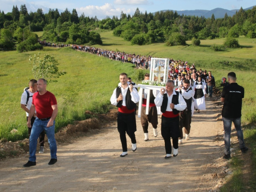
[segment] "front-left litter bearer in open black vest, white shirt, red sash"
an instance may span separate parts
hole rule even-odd
[[[138,91],[133,88],[132,84],[128,84],[127,74],[121,73],[119,75],[119,80],[121,86],[117,87],[111,98],[111,104],[118,107],[117,114],[117,130],[120,134],[120,140],[122,144],[123,153],[120,157],[127,155],[127,142],[125,133],[131,138],[132,141],[132,151],[135,152],[137,149],[135,132],[137,131],[136,127],[136,118],[135,118],[135,108],[136,103],[139,102]]]

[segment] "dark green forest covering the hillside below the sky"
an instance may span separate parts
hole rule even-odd
[[[167,46],[185,45],[191,39],[236,38],[245,35],[256,38],[256,6],[249,10],[242,7],[232,17],[215,19],[204,16],[178,15],[175,11],[153,13],[140,12],[133,15],[121,12],[120,16],[107,16],[98,19],[82,13],[78,16],[76,9],[68,9],[59,13],[58,9],[49,9],[43,13],[41,8],[28,13],[26,5],[20,9],[13,6],[12,12],[0,10],[0,49],[12,49],[15,45],[20,49],[41,49],[37,44],[35,31],[44,31],[41,39],[52,42],[63,42],[78,45],[101,45],[102,40],[95,29],[113,30],[134,45],[148,45],[155,42],[166,42]],[[32,46],[32,47],[29,47]],[[23,50],[22,49],[22,50]]]

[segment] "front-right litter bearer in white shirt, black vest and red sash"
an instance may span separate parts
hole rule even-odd
[[[172,144],[170,138],[173,139],[174,152],[173,156],[178,155],[178,138],[180,137],[179,128],[179,111],[186,109],[186,102],[182,95],[174,90],[174,81],[168,80],[165,89],[161,89],[155,99],[156,106],[161,106],[162,124],[161,134],[164,139],[165,159],[172,157]]]

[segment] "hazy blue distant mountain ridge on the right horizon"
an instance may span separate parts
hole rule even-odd
[[[254,6],[246,8],[244,10],[252,9]],[[163,12],[168,11],[168,10],[162,10]],[[171,11],[171,10],[169,10]],[[215,18],[223,18],[225,14],[227,13],[228,16],[233,16],[236,14],[236,12],[239,11],[239,9],[233,9],[233,10],[227,10],[227,9],[222,9],[222,8],[216,8],[212,10],[182,10],[182,11],[177,11],[179,15],[190,15],[190,16],[204,16],[205,18],[210,18],[212,14],[214,14]],[[173,10],[175,12],[175,10]],[[153,13],[155,14],[155,13]]]

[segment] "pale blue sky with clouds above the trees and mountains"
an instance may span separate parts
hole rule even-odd
[[[107,3],[106,3],[107,2]],[[84,13],[85,16],[95,17],[98,19],[106,18],[113,15],[120,17],[121,12],[130,14],[135,13],[139,8],[140,12],[153,13],[161,10],[195,10],[204,9],[212,10],[215,8],[246,9],[256,6],[255,0],[0,0],[0,10],[5,13],[11,12],[13,5],[20,9],[20,5],[26,5],[28,11],[36,12],[41,8],[44,13],[49,9],[58,9],[59,13],[68,8],[70,12],[76,9],[78,16]]]

